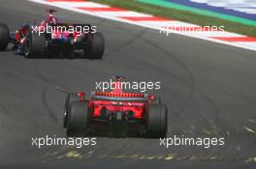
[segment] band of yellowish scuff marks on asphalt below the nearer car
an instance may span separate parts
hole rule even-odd
[[[246,157],[224,157],[222,155],[177,155],[177,154],[156,154],[156,155],[145,155],[145,154],[97,154],[95,151],[87,151],[86,153],[79,150],[70,150],[68,152],[54,152],[48,154],[48,159],[55,158],[57,160],[73,159],[76,162],[86,161],[86,160],[134,160],[134,161],[162,161],[162,162],[177,162],[177,161],[217,161],[217,162],[246,162],[255,163],[256,156],[246,156]],[[50,156],[50,157],[49,157]],[[42,162],[48,162],[44,160]]]

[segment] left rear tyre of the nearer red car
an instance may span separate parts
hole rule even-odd
[[[68,137],[76,137],[85,133],[89,121],[88,112],[87,101],[73,101],[71,103],[67,122]]]

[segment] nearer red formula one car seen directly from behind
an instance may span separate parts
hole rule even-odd
[[[115,86],[122,78],[117,76]],[[167,107],[161,100],[143,93],[92,92],[69,94],[65,102],[64,127],[67,136],[121,135],[166,137]]]

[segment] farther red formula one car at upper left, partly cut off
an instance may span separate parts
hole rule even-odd
[[[8,44],[27,58],[64,56],[102,59],[105,40],[95,26],[90,24],[59,23],[54,10],[48,10],[46,20],[39,25],[23,25],[16,32],[9,31],[6,24],[0,23],[0,51]]]

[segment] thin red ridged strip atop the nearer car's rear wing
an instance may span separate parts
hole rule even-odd
[[[144,98],[144,94],[140,94],[140,93],[95,92],[95,96],[121,97],[121,98]]]

